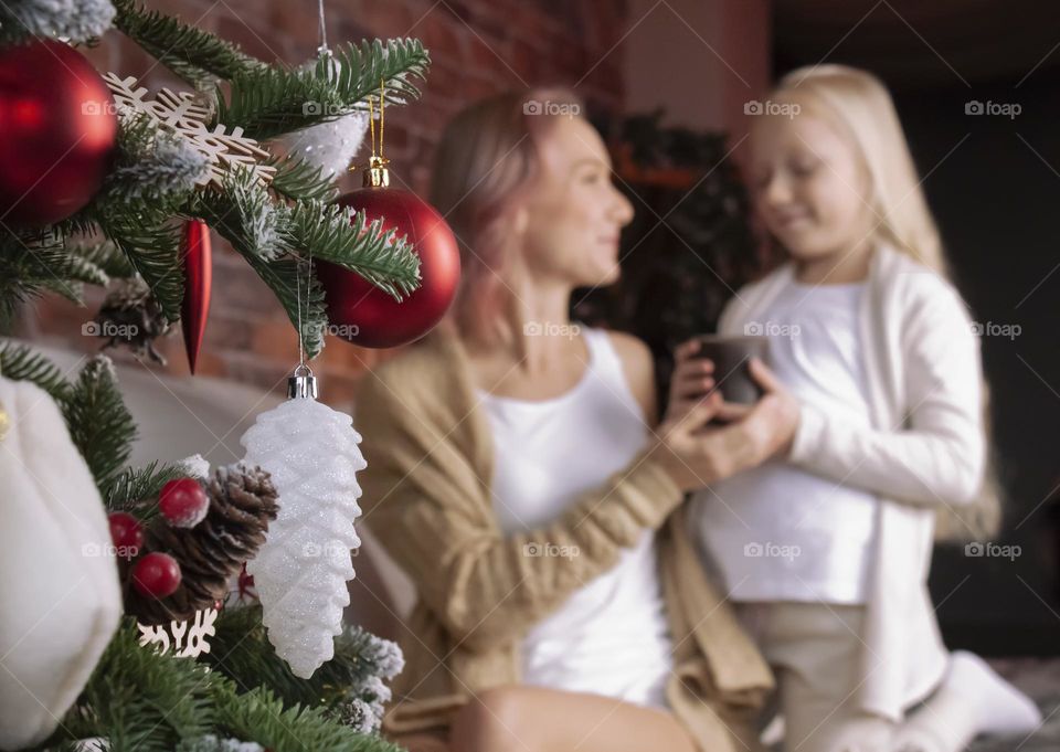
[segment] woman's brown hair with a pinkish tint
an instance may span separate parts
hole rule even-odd
[[[462,337],[495,343],[511,333],[504,313],[512,301],[513,210],[539,172],[542,138],[558,117],[582,110],[568,89],[531,88],[481,99],[446,126],[431,202],[460,246],[451,319]]]

